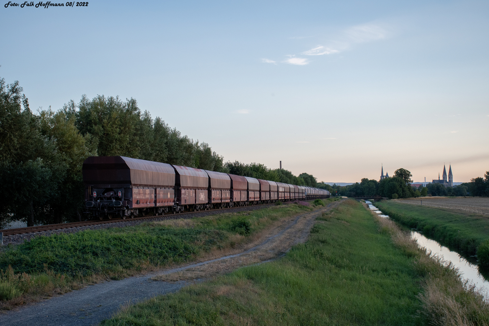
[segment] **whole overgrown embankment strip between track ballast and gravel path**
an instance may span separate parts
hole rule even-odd
[[[0,306],[8,309],[87,283],[222,256],[260,237],[261,232],[281,219],[313,209],[281,205],[44,236],[9,245],[0,253]]]

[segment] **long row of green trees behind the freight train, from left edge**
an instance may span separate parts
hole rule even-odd
[[[11,220],[34,224],[83,218],[82,164],[89,156],[122,155],[292,184],[316,185],[263,164],[223,162],[207,143],[194,141],[135,99],[83,95],[59,110],[32,112],[18,81],[0,79],[0,227]]]

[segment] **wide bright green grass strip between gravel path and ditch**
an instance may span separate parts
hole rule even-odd
[[[101,325],[421,325],[413,258],[353,200],[278,261],[125,307]]]

